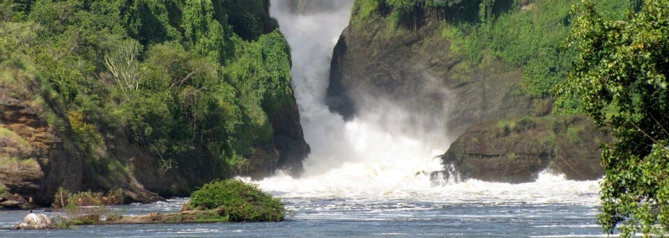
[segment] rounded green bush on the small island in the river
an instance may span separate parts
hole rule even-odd
[[[283,221],[286,212],[279,198],[233,179],[204,184],[191,194],[188,204],[196,209],[222,209],[230,221]]]

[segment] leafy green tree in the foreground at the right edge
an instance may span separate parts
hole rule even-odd
[[[604,232],[669,232],[669,1],[647,0],[627,21],[605,19],[592,1],[575,8],[569,47],[578,59],[560,93],[615,141],[603,145]]]

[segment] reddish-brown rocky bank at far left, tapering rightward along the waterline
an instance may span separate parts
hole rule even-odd
[[[0,184],[11,194],[5,199],[18,204],[8,202],[1,207],[48,206],[60,187],[70,191],[120,187],[129,202],[159,198],[132,175],[127,179],[109,176],[107,181],[100,181],[96,175],[86,173],[85,166],[91,165],[86,164],[72,142],[64,141],[49,127],[43,107],[10,95],[15,93],[0,88]]]

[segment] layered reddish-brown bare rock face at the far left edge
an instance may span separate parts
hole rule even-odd
[[[58,187],[82,188],[83,160],[66,151],[39,109],[0,88],[0,181],[10,192],[46,203]]]

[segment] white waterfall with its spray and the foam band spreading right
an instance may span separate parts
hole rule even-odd
[[[431,182],[431,172],[444,169],[435,156],[447,148],[434,148],[449,144],[443,131],[434,129],[432,134],[417,136],[415,132],[420,128],[412,131],[407,128],[411,125],[389,128],[388,121],[398,122],[401,120],[397,118],[408,115],[392,105],[383,105],[383,109],[392,111],[382,113],[378,109],[362,110],[350,122],[325,105],[332,50],[348,25],[353,0],[329,1],[329,9],[315,13],[291,13],[288,2],[272,0],[270,13],[279,21],[292,48],[293,88],[312,153],[305,160],[302,177],[295,179],[279,172],[255,182],[262,189],[292,198],[597,203],[597,182],[567,181],[562,175],[550,173],[542,173],[537,182],[517,185],[477,180]],[[414,133],[397,133],[403,131]]]

